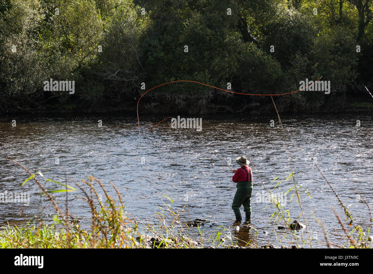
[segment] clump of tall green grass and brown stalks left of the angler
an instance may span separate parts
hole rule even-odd
[[[8,159],[9,160],[9,159]],[[21,164],[13,161],[21,166],[30,177],[25,180],[34,180],[36,185],[44,193],[47,199],[51,202],[52,207],[56,211],[54,216],[54,224],[48,226],[43,222],[30,225],[28,222],[25,227],[8,225],[0,233],[0,246],[2,248],[197,248],[204,247],[204,238],[200,227],[197,226],[199,239],[198,242],[193,240],[188,235],[190,227],[186,223],[182,223],[180,216],[182,212],[174,210],[172,207],[173,200],[170,197],[167,201],[163,201],[163,207],[160,207],[160,212],[157,213],[159,224],[150,225],[144,224],[133,215],[124,210],[122,197],[117,188],[110,182],[111,187],[116,192],[116,197],[112,198],[107,192],[103,183],[93,176],[89,176],[87,180],[81,180],[81,183],[70,179],[77,188],[83,193],[82,199],[87,202],[91,211],[90,229],[83,229],[79,226],[78,220],[73,218],[68,210],[68,193],[75,191],[75,188],[66,184],[66,208],[63,210],[54,201],[54,197],[50,194],[53,192],[62,192],[62,190],[47,190],[36,175],[31,174]],[[53,180],[46,180],[53,181]],[[66,179],[67,181],[67,179]],[[61,184],[60,182],[53,181]],[[98,194],[98,190],[104,193],[104,199]],[[138,223],[145,228],[143,233],[140,233]],[[57,230],[56,226],[61,226],[61,230]],[[224,229],[222,229],[224,231]],[[215,235],[211,235],[212,244],[220,246],[221,236],[229,238],[229,235],[217,231]]]

